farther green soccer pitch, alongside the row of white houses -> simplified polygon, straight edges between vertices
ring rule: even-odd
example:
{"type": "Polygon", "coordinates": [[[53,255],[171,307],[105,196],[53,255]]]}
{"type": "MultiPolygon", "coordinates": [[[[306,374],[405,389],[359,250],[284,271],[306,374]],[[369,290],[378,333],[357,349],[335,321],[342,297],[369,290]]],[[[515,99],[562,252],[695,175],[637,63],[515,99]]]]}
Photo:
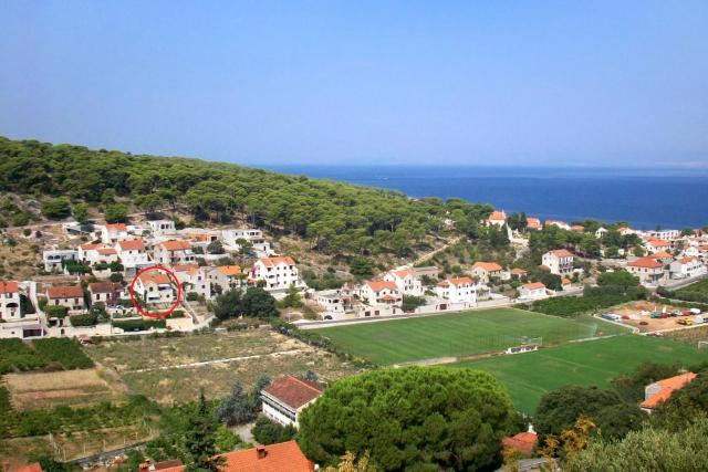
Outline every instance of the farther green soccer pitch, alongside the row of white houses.
{"type": "Polygon", "coordinates": [[[592,317],[561,318],[517,308],[492,308],[317,329],[342,349],[381,365],[500,350],[521,337],[543,345],[626,333],[592,317]]]}

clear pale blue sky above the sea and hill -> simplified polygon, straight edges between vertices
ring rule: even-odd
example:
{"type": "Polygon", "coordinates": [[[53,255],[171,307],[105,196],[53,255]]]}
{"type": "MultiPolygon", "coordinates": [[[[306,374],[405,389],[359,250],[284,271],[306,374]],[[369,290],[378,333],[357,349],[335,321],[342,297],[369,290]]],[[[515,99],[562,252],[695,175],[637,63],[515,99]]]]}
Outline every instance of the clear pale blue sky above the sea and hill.
{"type": "Polygon", "coordinates": [[[705,0],[0,12],[12,138],[263,166],[708,166],[705,0]]]}

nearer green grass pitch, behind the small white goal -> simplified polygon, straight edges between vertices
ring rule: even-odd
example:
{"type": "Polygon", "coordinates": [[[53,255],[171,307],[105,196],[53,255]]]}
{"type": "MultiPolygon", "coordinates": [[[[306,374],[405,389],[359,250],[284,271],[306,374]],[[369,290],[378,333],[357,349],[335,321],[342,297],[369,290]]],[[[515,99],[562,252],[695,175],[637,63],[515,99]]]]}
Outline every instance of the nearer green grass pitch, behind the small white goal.
{"type": "Polygon", "coordinates": [[[708,350],[670,339],[627,335],[455,366],[492,374],[509,389],[518,409],[533,412],[544,392],[564,385],[608,387],[612,378],[644,361],[688,366],[700,360],[708,360],[708,350]]]}

